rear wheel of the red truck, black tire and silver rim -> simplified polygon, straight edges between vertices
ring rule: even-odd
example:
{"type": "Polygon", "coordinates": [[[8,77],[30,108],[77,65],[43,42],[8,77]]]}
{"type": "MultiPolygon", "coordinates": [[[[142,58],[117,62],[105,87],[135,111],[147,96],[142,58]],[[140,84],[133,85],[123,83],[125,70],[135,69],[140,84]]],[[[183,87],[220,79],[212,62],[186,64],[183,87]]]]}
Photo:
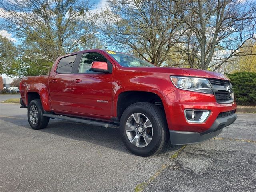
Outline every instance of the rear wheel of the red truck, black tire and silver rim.
{"type": "Polygon", "coordinates": [[[34,99],[28,105],[28,123],[32,129],[43,129],[49,123],[49,117],[44,117],[44,110],[42,108],[41,100],[34,99]]]}

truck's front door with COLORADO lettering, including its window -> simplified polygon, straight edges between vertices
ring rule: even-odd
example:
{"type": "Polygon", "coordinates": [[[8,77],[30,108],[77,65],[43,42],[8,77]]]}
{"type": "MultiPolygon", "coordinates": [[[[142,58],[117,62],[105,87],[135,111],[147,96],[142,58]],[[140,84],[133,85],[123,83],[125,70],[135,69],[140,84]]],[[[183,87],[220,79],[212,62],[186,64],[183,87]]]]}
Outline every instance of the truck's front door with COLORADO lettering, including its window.
{"type": "Polygon", "coordinates": [[[104,74],[90,69],[94,61],[107,62],[110,70],[112,64],[96,51],[84,52],[80,58],[76,74],[72,76],[72,112],[111,116],[112,73],[104,74]]]}

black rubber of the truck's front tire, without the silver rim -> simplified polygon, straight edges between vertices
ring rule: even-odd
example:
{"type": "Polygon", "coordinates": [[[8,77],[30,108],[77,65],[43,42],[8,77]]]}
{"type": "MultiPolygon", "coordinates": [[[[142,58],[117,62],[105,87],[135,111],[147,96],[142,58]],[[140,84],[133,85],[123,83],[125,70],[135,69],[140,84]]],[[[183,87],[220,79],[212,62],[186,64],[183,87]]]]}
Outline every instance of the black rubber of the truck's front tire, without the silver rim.
{"type": "Polygon", "coordinates": [[[162,126],[158,118],[156,118],[156,116],[157,115],[155,114],[154,111],[151,111],[147,107],[139,104],[136,106],[128,107],[122,114],[122,117],[120,120],[120,132],[121,132],[124,144],[126,145],[128,150],[130,150],[132,153],[140,156],[149,156],[150,154],[154,154],[154,152],[160,146],[163,131],[162,131],[162,126]],[[145,146],[142,148],[134,146],[134,144],[130,142],[130,140],[126,135],[126,130],[125,130],[126,122],[128,118],[134,113],[142,113],[146,115],[150,119],[150,122],[152,123],[152,127],[153,127],[153,137],[151,142],[148,144],[148,146],[145,146]]]}

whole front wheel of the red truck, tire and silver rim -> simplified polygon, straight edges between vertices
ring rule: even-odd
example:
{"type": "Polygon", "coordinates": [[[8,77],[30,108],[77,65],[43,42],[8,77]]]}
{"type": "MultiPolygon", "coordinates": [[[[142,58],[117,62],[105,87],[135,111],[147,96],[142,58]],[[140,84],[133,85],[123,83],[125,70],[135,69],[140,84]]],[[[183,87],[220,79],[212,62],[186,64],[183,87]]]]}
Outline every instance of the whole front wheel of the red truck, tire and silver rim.
{"type": "Polygon", "coordinates": [[[119,129],[126,148],[138,156],[157,154],[169,139],[165,114],[152,103],[138,102],[126,108],[119,129]]]}

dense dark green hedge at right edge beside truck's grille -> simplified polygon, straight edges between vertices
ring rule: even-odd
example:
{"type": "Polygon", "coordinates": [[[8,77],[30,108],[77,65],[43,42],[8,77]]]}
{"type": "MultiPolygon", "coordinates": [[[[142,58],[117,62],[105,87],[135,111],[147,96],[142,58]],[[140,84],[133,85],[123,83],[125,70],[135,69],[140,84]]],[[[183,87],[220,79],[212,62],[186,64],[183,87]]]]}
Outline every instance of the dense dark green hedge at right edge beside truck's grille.
{"type": "Polygon", "coordinates": [[[256,104],[256,73],[237,72],[227,75],[234,89],[234,97],[239,105],[256,104]]]}

